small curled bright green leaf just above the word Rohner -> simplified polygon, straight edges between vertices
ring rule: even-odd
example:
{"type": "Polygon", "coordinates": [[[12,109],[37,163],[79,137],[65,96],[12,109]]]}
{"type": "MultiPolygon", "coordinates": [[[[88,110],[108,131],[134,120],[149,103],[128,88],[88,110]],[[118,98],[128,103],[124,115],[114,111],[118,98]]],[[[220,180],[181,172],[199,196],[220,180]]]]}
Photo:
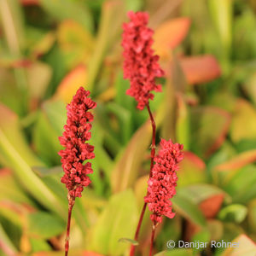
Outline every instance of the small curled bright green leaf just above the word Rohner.
{"type": "Polygon", "coordinates": [[[241,223],[247,216],[247,207],[238,204],[232,204],[228,207],[224,207],[218,213],[218,218],[223,221],[232,221],[241,223]]]}

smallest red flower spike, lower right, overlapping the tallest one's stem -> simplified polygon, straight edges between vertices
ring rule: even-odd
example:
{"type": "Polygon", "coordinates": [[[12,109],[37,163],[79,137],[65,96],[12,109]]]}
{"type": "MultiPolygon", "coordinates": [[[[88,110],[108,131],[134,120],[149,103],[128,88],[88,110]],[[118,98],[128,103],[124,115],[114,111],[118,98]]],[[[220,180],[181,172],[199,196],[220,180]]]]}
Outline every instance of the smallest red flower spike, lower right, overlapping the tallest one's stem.
{"type": "Polygon", "coordinates": [[[183,145],[161,139],[159,154],[154,157],[152,176],[148,179],[148,195],[144,201],[153,212],[150,216],[154,223],[161,223],[162,215],[173,218],[172,201],[176,194],[177,163],[183,160],[183,145]]]}

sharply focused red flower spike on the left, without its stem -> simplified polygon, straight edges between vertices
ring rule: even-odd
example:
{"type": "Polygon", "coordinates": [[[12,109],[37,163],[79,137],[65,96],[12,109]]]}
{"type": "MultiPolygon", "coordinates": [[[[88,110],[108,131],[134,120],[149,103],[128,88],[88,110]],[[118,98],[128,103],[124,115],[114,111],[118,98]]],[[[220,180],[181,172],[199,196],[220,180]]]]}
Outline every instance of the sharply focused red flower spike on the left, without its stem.
{"type": "Polygon", "coordinates": [[[93,115],[88,110],[96,107],[96,102],[93,102],[89,95],[89,90],[80,87],[73,96],[72,102],[67,105],[65,131],[62,137],[59,137],[61,145],[65,148],[59,152],[65,172],[61,183],[66,184],[68,194],[73,198],[81,197],[84,187],[90,184],[87,174],[93,172],[89,162],[84,164],[84,160],[95,157],[94,147],[85,143],[90,140],[90,122],[93,120],[93,115]]]}

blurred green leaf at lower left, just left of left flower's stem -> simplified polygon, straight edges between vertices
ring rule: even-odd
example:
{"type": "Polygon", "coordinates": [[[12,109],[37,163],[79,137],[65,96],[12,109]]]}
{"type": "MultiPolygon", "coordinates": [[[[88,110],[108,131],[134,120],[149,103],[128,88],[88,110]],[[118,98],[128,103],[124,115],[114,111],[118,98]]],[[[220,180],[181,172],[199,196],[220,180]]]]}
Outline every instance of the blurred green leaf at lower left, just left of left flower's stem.
{"type": "Polygon", "coordinates": [[[66,224],[48,212],[34,212],[28,216],[28,235],[34,238],[49,239],[60,235],[66,224]]]}

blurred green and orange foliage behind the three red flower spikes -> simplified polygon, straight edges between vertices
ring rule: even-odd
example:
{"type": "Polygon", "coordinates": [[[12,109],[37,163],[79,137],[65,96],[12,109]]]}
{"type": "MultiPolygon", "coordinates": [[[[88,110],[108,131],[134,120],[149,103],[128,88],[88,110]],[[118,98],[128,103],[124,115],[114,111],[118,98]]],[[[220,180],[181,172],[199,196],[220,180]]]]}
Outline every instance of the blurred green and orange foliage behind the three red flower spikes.
{"type": "MultiPolygon", "coordinates": [[[[79,86],[98,106],[92,185],[76,201],[71,255],[127,255],[143,206],[151,126],[125,95],[121,26],[146,10],[166,71],[150,102],[157,137],[183,143],[158,255],[255,255],[256,4],[247,0],[0,1],[0,255],[57,256],[67,190],[58,137],[79,86]],[[121,239],[121,241],[119,241],[121,239]],[[238,248],[166,250],[166,241],[238,241],[238,248]],[[126,242],[125,242],[126,241],[126,242]],[[165,251],[166,250],[166,251],[165,251]]],[[[143,221],[138,255],[148,255],[143,221]]]]}

